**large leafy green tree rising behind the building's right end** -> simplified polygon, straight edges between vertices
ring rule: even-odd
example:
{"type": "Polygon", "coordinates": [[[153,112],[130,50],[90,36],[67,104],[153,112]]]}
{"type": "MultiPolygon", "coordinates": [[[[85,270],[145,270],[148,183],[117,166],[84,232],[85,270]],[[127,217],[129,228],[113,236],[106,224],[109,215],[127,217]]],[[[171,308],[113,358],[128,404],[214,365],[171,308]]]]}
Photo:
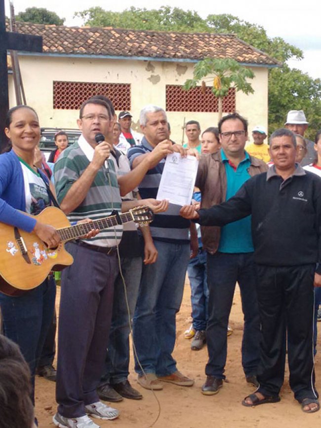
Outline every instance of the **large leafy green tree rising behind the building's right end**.
{"type": "Polygon", "coordinates": [[[288,110],[303,109],[310,123],[305,135],[313,140],[321,123],[321,80],[285,63],[290,58],[302,59],[303,52],[281,37],[269,38],[263,27],[232,15],[209,15],[206,22],[215,32],[236,33],[241,40],[283,63],[269,71],[269,131],[284,126],[288,110]]]}

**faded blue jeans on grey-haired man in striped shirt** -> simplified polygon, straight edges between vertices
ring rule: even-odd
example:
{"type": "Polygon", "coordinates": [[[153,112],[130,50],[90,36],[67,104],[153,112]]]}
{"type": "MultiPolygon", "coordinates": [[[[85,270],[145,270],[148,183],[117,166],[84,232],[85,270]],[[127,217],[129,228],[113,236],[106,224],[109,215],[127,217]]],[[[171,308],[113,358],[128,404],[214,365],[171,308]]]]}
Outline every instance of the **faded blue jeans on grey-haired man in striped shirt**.
{"type": "MultiPolygon", "coordinates": [[[[176,339],[176,313],[181,306],[189,244],[154,241],[157,261],[143,266],[133,320],[134,344],[146,373],[174,373],[172,352],[176,339]]],[[[135,371],[142,374],[135,358],[135,371]]]]}

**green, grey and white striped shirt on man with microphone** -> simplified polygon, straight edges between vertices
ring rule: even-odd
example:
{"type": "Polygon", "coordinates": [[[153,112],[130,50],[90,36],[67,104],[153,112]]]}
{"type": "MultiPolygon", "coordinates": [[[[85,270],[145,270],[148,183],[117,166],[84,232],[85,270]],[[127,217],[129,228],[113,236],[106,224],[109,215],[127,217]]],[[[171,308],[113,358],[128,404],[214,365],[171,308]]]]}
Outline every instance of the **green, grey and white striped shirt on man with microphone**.
{"type": "MultiPolygon", "coordinates": [[[[58,202],[61,203],[68,190],[88,167],[94,149],[81,135],[78,143],[67,147],[59,156],[54,168],[55,187],[58,202]]],[[[121,211],[121,198],[113,162],[108,162],[108,170],[102,166],[91,184],[84,200],[68,219],[79,221],[84,218],[97,220],[111,215],[113,210],[121,211]]],[[[83,241],[101,247],[118,245],[121,239],[122,226],[105,229],[92,239],[83,241]]]]}

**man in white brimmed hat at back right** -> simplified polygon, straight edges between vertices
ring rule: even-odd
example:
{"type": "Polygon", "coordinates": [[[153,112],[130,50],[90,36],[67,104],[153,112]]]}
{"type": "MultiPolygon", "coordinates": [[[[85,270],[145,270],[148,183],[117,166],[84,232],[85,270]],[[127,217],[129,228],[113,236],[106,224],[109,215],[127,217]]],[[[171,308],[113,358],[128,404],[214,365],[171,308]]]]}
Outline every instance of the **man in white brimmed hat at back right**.
{"type": "MultiPolygon", "coordinates": [[[[287,113],[286,122],[285,122],[285,128],[289,129],[290,131],[294,132],[294,134],[299,134],[304,137],[304,133],[306,129],[309,126],[309,122],[307,122],[307,119],[305,117],[303,110],[290,110],[287,113]]],[[[307,154],[300,162],[301,166],[310,165],[315,161],[317,158],[317,152],[314,149],[314,142],[305,139],[307,142],[307,154]]]]}

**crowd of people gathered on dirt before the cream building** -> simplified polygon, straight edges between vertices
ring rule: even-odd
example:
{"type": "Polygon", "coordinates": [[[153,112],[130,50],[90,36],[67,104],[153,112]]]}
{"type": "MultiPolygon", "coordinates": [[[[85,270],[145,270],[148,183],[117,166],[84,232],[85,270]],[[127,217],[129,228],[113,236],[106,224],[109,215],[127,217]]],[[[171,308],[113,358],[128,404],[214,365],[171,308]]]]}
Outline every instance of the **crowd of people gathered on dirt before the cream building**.
{"type": "MultiPolygon", "coordinates": [[[[38,425],[31,405],[36,373],[56,381],[53,423],[60,428],[99,428],[95,419],[119,416],[103,401],[140,400],[143,392],[128,380],[131,329],[143,389],[161,390],[164,382],[192,387],[194,380],[172,356],[186,273],[192,324],[184,335],[193,351],[205,344],[208,351],[201,393],[214,395],[223,386],[238,283],[241,362],[245,382],[255,387],[242,404],[280,401],[287,349],[294,396],[304,412],[318,411],[321,131],[315,143],[306,140],[304,112],[290,110],[269,144],[266,129],[257,125],[246,145],[247,120],[232,113],[202,133],[198,121],[187,122],[182,146],[170,140],[161,107],[141,110],[141,134],[131,120],[128,111],[117,117],[105,96],[92,97],[80,107],[79,141],[68,146],[67,135],[58,132],[57,149],[46,162],[37,112],[28,106],[8,112],[11,150],[0,155],[0,221],[33,231],[49,249],[60,244],[57,230],[24,213],[54,205],[71,224],[87,228],[65,245],[74,262],[61,275],[57,371],[52,273],[19,296],[0,293],[3,333],[29,366],[28,374],[20,354],[11,352],[15,363],[21,360],[23,379],[30,376],[25,426],[38,425]],[[184,207],[157,200],[166,156],[173,152],[199,160],[193,200],[184,207]],[[99,231],[90,224],[140,206],[154,212],[149,226],[128,222],[99,231]]],[[[14,396],[12,385],[8,397],[14,396]]]]}

